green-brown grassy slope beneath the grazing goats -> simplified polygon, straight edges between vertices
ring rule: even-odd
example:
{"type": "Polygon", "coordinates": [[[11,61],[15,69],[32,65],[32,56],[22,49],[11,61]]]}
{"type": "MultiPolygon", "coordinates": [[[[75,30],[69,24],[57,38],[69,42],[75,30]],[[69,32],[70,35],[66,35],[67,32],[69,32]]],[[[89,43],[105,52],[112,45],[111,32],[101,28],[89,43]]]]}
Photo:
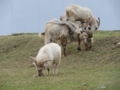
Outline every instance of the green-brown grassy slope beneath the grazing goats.
{"type": "Polygon", "coordinates": [[[35,67],[29,56],[36,56],[44,45],[37,35],[0,37],[0,90],[119,90],[120,32],[97,31],[93,48],[77,51],[69,44],[58,75],[33,78],[35,67]],[[105,88],[105,89],[104,89],[105,88]]]}

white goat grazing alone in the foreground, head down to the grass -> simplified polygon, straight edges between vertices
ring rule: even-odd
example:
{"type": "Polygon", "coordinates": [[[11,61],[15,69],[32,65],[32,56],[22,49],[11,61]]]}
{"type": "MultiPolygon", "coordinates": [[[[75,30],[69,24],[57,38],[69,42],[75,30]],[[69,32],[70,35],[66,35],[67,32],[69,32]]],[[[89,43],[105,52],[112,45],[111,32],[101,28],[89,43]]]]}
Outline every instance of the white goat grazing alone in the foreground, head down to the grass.
{"type": "Polygon", "coordinates": [[[51,64],[54,65],[54,74],[57,74],[58,65],[61,59],[61,47],[56,43],[47,44],[41,47],[36,58],[30,58],[33,60],[33,63],[38,71],[38,74],[34,76],[44,75],[43,70],[45,68],[47,68],[49,75],[51,64]]]}

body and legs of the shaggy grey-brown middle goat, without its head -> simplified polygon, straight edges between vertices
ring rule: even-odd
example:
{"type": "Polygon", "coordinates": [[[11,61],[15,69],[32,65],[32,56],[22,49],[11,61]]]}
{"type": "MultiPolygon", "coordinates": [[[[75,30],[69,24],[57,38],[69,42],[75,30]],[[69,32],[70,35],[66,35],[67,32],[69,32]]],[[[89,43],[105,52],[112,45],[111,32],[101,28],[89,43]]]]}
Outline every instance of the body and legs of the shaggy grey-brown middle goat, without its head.
{"type": "Polygon", "coordinates": [[[57,40],[60,40],[62,45],[62,54],[66,56],[66,45],[68,42],[79,39],[78,50],[80,50],[80,41],[87,41],[86,39],[88,36],[85,36],[86,38],[80,37],[82,34],[81,30],[82,29],[77,29],[75,24],[71,23],[70,21],[50,21],[45,26],[45,44],[57,42],[57,40]]]}

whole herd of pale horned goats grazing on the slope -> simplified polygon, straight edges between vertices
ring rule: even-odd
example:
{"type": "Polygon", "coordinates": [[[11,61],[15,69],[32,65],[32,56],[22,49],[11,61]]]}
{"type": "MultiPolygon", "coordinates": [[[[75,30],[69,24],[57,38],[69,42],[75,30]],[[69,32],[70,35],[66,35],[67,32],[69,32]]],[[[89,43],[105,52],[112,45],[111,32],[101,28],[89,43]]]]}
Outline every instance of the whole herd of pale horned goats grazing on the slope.
{"type": "Polygon", "coordinates": [[[77,41],[78,50],[81,44],[84,50],[92,47],[93,31],[100,26],[100,19],[96,20],[91,10],[76,4],[66,7],[66,11],[60,20],[53,19],[46,23],[44,35],[45,45],[41,47],[36,57],[30,57],[36,66],[38,74],[45,75],[44,69],[47,68],[48,75],[50,66],[54,65],[54,74],[57,74],[61,53],[66,56],[66,45],[68,42],[77,41]],[[61,47],[57,44],[60,41],[61,47]]]}

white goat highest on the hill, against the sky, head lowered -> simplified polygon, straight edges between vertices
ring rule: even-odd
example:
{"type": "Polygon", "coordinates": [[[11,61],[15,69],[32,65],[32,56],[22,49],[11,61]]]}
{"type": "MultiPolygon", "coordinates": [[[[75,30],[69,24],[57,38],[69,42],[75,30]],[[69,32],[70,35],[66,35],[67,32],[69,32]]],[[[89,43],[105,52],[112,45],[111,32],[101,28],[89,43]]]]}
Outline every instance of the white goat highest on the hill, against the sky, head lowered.
{"type": "Polygon", "coordinates": [[[92,11],[87,7],[82,7],[77,4],[71,4],[66,7],[66,15],[60,17],[62,20],[81,21],[86,24],[86,28],[90,30],[97,30],[100,26],[100,19],[96,20],[92,11]],[[66,16],[66,18],[65,18],[66,16]]]}

